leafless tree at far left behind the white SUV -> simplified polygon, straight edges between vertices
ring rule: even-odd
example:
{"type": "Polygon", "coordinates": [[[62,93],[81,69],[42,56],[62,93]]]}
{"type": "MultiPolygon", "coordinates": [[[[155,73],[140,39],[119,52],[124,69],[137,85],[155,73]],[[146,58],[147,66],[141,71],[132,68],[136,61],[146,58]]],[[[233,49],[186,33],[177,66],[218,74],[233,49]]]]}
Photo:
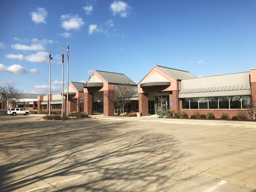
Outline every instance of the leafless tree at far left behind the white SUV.
{"type": "Polygon", "coordinates": [[[7,83],[7,85],[3,87],[0,86],[0,92],[6,107],[10,108],[12,102],[17,102],[21,99],[23,91],[17,89],[14,84],[7,83]]]}

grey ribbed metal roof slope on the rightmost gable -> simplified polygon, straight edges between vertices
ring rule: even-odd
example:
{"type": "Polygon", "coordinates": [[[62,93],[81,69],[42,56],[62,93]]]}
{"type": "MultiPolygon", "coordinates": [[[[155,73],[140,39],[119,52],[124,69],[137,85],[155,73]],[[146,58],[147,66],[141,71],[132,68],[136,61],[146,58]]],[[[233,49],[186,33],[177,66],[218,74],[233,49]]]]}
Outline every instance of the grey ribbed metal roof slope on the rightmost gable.
{"type": "Polygon", "coordinates": [[[183,71],[179,69],[173,69],[169,67],[163,67],[156,65],[156,67],[164,72],[166,72],[168,75],[172,76],[175,79],[183,80],[183,79],[191,79],[191,78],[196,78],[196,75],[193,75],[192,73],[188,71],[183,71]]]}

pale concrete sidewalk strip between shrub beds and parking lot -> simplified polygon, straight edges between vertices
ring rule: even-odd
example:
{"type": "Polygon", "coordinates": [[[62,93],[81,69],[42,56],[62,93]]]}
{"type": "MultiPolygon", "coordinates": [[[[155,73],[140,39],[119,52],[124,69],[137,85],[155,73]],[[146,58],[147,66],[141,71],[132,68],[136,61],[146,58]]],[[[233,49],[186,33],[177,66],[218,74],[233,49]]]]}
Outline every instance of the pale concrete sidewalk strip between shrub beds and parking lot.
{"type": "Polygon", "coordinates": [[[256,128],[255,121],[174,119],[174,118],[164,119],[164,118],[158,118],[157,115],[149,115],[149,116],[142,116],[142,117],[118,117],[118,116],[103,116],[103,114],[99,114],[99,115],[90,115],[89,117],[96,118],[96,119],[108,119],[108,120],[152,121],[152,122],[189,124],[189,125],[224,125],[224,126],[256,128]]]}

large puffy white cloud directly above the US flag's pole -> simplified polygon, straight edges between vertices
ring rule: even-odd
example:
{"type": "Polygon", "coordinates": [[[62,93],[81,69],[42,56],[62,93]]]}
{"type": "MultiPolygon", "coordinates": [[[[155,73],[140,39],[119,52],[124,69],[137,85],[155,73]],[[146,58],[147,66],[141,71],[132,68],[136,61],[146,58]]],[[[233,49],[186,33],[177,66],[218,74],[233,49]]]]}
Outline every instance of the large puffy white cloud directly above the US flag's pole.
{"type": "Polygon", "coordinates": [[[71,29],[80,29],[80,27],[84,25],[83,19],[79,18],[78,15],[61,15],[61,19],[65,20],[61,22],[61,26],[67,31],[71,29]]]}

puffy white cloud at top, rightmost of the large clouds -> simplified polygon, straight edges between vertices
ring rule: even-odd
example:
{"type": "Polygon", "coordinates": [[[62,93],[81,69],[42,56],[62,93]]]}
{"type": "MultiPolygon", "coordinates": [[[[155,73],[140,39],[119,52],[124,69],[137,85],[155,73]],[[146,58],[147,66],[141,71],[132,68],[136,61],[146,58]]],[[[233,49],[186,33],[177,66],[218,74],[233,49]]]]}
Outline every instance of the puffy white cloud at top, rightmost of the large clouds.
{"type": "Polygon", "coordinates": [[[110,10],[113,15],[120,14],[121,17],[127,17],[127,12],[129,12],[130,9],[131,7],[123,1],[114,1],[110,5],[110,10]]]}

